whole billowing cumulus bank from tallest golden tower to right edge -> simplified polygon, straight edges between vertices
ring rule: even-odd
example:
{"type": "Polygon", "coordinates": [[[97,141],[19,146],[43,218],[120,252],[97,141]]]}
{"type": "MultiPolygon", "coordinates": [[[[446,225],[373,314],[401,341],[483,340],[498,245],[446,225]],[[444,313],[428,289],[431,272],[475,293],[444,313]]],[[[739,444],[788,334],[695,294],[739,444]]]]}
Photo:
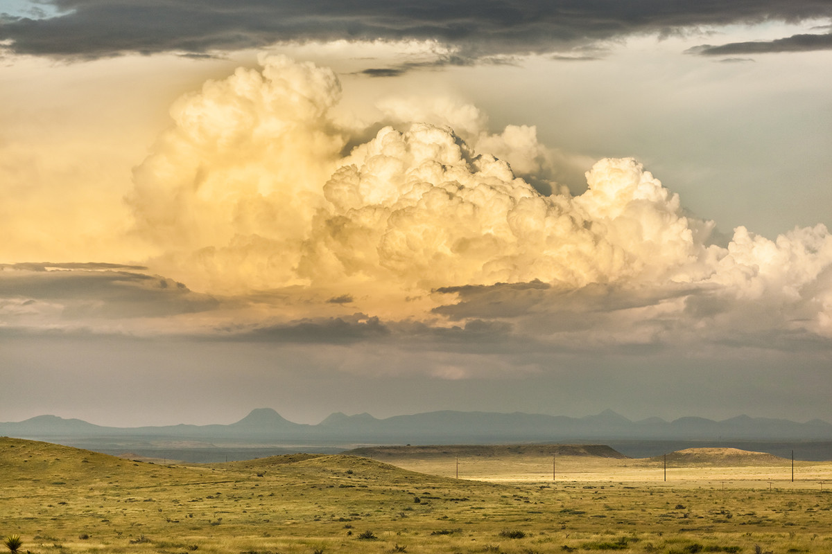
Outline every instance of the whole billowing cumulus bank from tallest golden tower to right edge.
{"type": "MultiPolygon", "coordinates": [[[[136,169],[131,205],[136,233],[157,249],[154,271],[200,292],[282,289],[295,316],[427,321],[450,302],[437,289],[539,281],[549,286],[535,289],[539,302],[500,297],[489,317],[557,311],[573,291],[573,315],[609,310],[592,316],[597,328],[641,343],[682,328],[832,336],[823,226],[775,241],[738,228],[721,248],[712,224],[686,216],[635,160],[598,161],[572,195],[552,182],[558,158],[534,127],[492,133],[479,110],[442,99],[387,101],[395,125],[343,155],[364,130],[336,124],[334,74],[261,62],[178,101],[175,125],[136,169]],[[641,303],[610,308],[580,293],[599,286],[616,291],[605,302],[641,303]]],[[[469,301],[453,316],[483,311],[469,301]]],[[[559,332],[547,325],[534,332],[559,332]]]]}

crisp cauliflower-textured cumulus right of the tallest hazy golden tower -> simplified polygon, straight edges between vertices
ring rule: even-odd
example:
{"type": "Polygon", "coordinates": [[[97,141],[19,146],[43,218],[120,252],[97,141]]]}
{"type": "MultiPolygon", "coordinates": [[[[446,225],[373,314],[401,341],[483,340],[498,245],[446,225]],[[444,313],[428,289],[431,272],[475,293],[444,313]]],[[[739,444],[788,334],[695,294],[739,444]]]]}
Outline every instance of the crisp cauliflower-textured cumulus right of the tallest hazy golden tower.
{"type": "Polygon", "coordinates": [[[576,288],[671,277],[703,255],[678,198],[633,160],[602,160],[589,186],[542,196],[449,130],[385,128],[324,185],[329,206],[302,267],[313,280],[358,272],[423,289],[534,279],[576,288]]]}

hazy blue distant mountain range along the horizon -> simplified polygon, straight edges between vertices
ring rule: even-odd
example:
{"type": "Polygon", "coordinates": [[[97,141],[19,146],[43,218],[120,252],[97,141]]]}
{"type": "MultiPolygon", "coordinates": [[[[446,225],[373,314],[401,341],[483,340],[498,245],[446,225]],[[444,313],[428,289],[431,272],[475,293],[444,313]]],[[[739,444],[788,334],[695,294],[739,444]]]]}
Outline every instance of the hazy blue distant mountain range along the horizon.
{"type": "Polygon", "coordinates": [[[820,419],[685,417],[631,421],[606,410],[582,418],[545,414],[437,411],[376,419],[370,414],[330,415],[319,424],[296,424],[274,409],[255,409],[233,424],[105,427],[40,415],[0,423],[0,435],[52,442],[107,439],[196,441],[198,444],[508,444],[519,442],[621,440],[832,440],[832,424],[820,419]]]}

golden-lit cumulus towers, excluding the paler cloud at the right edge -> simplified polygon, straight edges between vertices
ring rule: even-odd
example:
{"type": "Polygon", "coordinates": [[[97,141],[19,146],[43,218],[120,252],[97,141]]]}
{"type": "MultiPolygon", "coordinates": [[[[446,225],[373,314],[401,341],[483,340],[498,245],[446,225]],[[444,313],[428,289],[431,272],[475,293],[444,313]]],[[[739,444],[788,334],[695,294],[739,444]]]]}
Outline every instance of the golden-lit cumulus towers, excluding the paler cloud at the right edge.
{"type": "Polygon", "coordinates": [[[704,256],[708,224],[683,216],[631,159],[596,164],[584,194],[554,184],[545,196],[510,165],[544,169],[533,128],[489,135],[470,106],[448,119],[473,145],[417,121],[384,127],[342,158],[349,130],[330,116],[332,72],[282,57],[264,64],[178,101],[175,127],[136,169],[136,232],[159,248],[155,267],[191,286],[574,288],[687,275],[704,256]]]}

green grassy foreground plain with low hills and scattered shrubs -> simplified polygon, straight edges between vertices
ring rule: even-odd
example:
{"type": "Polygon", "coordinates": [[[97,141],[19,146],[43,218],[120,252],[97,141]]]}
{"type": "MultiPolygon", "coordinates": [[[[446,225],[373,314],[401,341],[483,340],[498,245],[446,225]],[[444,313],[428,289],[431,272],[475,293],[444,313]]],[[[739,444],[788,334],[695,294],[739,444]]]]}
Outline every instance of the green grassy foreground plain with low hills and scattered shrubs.
{"type": "Polygon", "coordinates": [[[728,468],[741,486],[664,482],[656,460],[585,458],[591,472],[496,482],[448,477],[448,458],[446,476],[350,455],[183,466],[0,439],[0,535],[55,554],[832,551],[832,492],[817,480],[769,489],[741,479],[752,465],[728,468]],[[616,479],[639,464],[641,480],[616,479]]]}

